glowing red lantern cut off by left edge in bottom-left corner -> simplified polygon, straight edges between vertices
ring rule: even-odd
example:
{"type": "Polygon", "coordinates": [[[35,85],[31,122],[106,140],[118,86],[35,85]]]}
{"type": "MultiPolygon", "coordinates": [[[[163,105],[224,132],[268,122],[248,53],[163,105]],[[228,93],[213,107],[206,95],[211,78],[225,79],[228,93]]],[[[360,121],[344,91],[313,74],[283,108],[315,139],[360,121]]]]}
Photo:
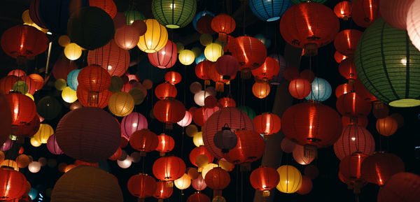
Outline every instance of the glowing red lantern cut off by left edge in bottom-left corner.
{"type": "Polygon", "coordinates": [[[27,179],[25,175],[9,168],[0,168],[0,197],[3,200],[16,199],[25,194],[27,179]]]}

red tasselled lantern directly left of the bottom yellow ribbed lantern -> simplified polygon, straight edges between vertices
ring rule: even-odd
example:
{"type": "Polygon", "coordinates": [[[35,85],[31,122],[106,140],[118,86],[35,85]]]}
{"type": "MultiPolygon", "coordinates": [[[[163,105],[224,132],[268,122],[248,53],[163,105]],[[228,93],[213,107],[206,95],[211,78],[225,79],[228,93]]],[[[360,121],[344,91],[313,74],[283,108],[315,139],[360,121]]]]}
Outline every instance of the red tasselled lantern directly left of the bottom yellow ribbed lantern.
{"type": "Polygon", "coordinates": [[[279,184],[280,177],[275,168],[262,167],[253,170],[249,180],[254,189],[262,191],[262,196],[269,196],[269,190],[279,184]]]}

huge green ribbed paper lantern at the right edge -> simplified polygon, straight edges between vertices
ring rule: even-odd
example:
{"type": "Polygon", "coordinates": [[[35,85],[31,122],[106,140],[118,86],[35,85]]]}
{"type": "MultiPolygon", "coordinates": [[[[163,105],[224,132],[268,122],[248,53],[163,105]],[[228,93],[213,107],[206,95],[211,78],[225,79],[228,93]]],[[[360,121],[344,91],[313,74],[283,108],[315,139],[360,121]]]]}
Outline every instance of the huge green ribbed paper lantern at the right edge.
{"type": "Polygon", "coordinates": [[[358,78],[379,101],[420,106],[420,52],[407,31],[375,20],[358,42],[354,62],[358,78]]]}

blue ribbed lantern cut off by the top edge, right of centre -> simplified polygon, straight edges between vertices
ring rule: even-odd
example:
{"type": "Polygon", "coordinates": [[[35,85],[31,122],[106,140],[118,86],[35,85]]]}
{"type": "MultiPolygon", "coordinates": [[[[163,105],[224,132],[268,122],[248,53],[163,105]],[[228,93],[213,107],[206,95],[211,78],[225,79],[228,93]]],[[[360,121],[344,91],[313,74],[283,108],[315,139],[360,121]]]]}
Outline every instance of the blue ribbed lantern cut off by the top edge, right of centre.
{"type": "Polygon", "coordinates": [[[279,20],[290,6],[293,6],[290,0],[249,0],[252,13],[267,22],[279,20]]]}

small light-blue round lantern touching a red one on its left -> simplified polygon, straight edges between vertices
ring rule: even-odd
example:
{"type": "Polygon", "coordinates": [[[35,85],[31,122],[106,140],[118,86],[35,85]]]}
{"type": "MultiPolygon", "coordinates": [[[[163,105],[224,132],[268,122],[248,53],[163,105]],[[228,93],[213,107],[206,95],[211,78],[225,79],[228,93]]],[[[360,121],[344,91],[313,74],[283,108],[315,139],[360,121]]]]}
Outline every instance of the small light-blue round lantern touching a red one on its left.
{"type": "Polygon", "coordinates": [[[330,83],[327,80],[323,78],[315,78],[311,85],[312,91],[305,99],[325,101],[330,98],[332,89],[330,83]]]}

